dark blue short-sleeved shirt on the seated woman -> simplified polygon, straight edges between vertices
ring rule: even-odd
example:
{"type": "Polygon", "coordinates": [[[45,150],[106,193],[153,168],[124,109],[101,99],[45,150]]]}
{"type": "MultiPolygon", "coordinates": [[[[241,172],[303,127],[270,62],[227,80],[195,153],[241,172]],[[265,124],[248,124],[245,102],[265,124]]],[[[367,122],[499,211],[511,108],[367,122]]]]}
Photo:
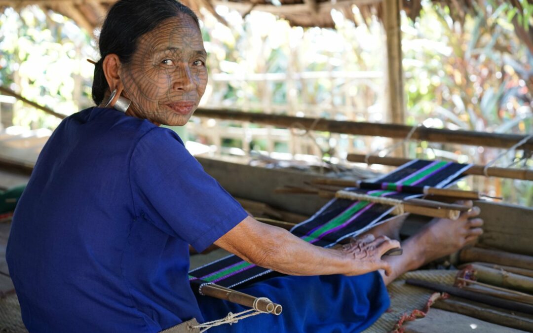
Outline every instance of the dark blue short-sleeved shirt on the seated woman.
{"type": "Polygon", "coordinates": [[[180,137],[113,109],[64,119],[13,216],[7,263],[30,331],[154,332],[195,317],[189,244],[247,216],[180,137]]]}

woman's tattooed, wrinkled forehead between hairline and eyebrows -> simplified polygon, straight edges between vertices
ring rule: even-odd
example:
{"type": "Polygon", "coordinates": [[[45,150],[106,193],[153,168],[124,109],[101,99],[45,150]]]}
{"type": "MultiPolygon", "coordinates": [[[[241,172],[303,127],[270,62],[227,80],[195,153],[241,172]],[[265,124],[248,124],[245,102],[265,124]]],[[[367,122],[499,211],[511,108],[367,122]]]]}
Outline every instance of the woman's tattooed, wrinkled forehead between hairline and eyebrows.
{"type": "Polygon", "coordinates": [[[139,39],[139,48],[148,47],[151,52],[169,49],[191,48],[203,50],[204,41],[196,22],[189,15],[169,18],[139,39]]]}

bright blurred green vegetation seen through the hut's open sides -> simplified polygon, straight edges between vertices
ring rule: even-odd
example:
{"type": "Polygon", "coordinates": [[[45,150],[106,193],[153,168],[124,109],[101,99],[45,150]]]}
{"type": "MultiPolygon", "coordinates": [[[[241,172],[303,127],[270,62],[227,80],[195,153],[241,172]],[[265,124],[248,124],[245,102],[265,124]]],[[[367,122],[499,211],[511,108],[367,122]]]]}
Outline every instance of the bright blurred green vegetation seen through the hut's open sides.
{"type": "MultiPolygon", "coordinates": [[[[473,2],[479,6],[474,13],[462,15],[461,21],[453,20],[446,5],[430,1],[422,3],[421,15],[414,21],[402,15],[407,125],[532,133],[533,54],[516,29],[529,33],[533,5],[519,2],[522,12],[507,2],[473,2]]],[[[290,27],[268,13],[252,11],[243,19],[227,7],[217,6],[216,11],[227,20],[227,26],[202,13],[210,75],[202,101],[205,107],[387,122],[383,91],[386,50],[383,28],[376,18],[364,20],[353,7],[359,22],[356,26],[333,10],[336,30],[304,29],[290,27]]],[[[95,35],[98,37],[98,31],[95,35]]],[[[98,60],[95,45],[91,31],[78,28],[58,13],[43,12],[37,6],[18,12],[7,8],[0,15],[2,85],[66,115],[90,107],[93,66],[86,59],[98,60]]],[[[13,102],[0,100],[4,127],[53,129],[59,124],[53,116],[13,102]]],[[[199,118],[187,126],[188,131],[181,135],[213,145],[215,150],[230,149],[219,152],[247,154],[255,150],[275,158],[298,154],[339,161],[349,152],[367,153],[390,144],[382,138],[332,133],[302,137],[298,131],[269,126],[265,126],[265,135],[221,135],[215,140],[209,134],[213,128],[260,128],[199,118]],[[276,139],[287,131],[292,141],[276,139]]],[[[501,150],[411,142],[408,152],[411,158],[485,164],[501,150]]],[[[515,163],[531,168],[533,161],[524,159],[528,153],[510,152],[497,165],[515,163]]],[[[532,206],[530,183],[470,177],[460,185],[532,206]]]]}

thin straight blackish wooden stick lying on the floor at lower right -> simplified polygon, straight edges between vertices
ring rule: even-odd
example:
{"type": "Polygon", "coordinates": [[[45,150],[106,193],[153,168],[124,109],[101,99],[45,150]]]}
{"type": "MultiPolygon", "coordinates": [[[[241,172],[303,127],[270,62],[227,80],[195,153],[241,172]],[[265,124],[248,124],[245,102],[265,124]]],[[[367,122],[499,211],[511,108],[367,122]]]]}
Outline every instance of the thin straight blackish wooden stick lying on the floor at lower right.
{"type": "Polygon", "coordinates": [[[417,280],[417,279],[407,279],[406,283],[408,285],[423,287],[423,288],[439,291],[440,293],[448,293],[450,295],[463,297],[466,299],[474,300],[476,302],[480,302],[480,303],[484,303],[484,304],[488,304],[488,305],[492,305],[496,307],[506,308],[507,310],[520,311],[523,313],[533,314],[533,305],[514,302],[513,300],[500,299],[500,298],[492,297],[489,295],[474,293],[473,291],[463,290],[457,287],[441,285],[439,283],[422,281],[422,280],[417,280]]]}

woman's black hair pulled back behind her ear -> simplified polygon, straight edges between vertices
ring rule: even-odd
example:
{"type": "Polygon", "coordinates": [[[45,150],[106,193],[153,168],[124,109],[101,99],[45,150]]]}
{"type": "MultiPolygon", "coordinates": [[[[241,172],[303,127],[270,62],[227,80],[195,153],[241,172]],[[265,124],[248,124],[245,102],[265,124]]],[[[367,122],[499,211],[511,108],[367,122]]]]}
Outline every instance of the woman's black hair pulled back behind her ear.
{"type": "Polygon", "coordinates": [[[101,58],[94,66],[92,95],[96,105],[109,87],[102,68],[106,55],[115,53],[120,62],[130,62],[139,37],[154,30],[161,21],[180,14],[189,15],[200,27],[196,14],[177,0],[120,0],[111,7],[98,43],[101,58]]]}

